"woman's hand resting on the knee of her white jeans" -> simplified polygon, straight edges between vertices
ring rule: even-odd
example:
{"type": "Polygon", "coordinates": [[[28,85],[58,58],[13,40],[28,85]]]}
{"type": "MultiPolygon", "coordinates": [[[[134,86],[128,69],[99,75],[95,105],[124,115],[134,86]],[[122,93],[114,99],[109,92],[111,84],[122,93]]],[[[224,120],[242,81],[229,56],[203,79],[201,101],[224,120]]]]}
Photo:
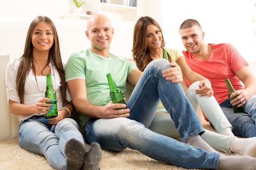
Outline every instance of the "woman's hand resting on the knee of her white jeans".
{"type": "Polygon", "coordinates": [[[195,90],[195,93],[200,94],[199,96],[213,96],[213,88],[209,80],[201,80],[199,88],[195,90]]]}

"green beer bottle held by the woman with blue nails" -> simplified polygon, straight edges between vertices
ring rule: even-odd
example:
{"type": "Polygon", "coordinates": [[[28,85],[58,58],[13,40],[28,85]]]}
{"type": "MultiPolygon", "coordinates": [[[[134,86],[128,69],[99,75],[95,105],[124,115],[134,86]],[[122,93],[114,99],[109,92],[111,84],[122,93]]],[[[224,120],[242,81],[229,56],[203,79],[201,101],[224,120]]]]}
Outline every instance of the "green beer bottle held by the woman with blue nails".
{"type": "Polygon", "coordinates": [[[44,92],[44,97],[54,101],[54,102],[46,102],[48,104],[54,105],[53,110],[47,110],[47,111],[50,111],[51,113],[47,113],[46,117],[47,118],[54,118],[54,117],[58,116],[56,92],[55,92],[55,90],[53,89],[53,86],[52,86],[51,74],[46,75],[46,91],[44,92]]]}

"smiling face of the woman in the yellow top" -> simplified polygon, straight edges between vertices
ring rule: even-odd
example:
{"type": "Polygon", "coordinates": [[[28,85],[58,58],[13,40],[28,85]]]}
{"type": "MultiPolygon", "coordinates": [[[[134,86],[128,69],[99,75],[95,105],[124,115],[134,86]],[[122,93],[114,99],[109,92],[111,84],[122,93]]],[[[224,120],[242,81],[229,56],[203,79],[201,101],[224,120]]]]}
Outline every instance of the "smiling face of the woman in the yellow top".
{"type": "Polygon", "coordinates": [[[149,24],[146,29],[147,37],[147,48],[149,50],[159,49],[162,44],[162,33],[160,30],[153,24],[149,24]]]}

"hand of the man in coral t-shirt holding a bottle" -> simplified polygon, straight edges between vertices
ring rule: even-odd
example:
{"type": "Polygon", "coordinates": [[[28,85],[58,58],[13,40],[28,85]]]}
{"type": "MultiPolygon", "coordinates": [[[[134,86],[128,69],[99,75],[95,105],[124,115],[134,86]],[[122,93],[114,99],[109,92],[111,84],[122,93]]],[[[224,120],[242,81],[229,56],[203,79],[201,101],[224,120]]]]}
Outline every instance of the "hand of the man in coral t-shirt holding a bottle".
{"type": "Polygon", "coordinates": [[[236,95],[238,96],[235,99],[233,99],[230,103],[232,105],[238,104],[237,107],[241,107],[250,99],[253,93],[247,89],[241,89],[241,90],[236,90],[235,93],[230,95],[230,97],[232,98],[232,97],[235,97],[236,95]]]}

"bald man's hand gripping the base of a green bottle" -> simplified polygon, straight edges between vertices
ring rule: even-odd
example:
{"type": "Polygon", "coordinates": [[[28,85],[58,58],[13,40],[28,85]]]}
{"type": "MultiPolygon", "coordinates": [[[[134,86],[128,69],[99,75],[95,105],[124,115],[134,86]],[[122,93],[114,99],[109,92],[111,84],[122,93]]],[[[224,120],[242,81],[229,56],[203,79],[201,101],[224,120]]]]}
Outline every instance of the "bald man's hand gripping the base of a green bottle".
{"type": "Polygon", "coordinates": [[[127,118],[130,116],[130,109],[125,109],[126,104],[108,102],[105,106],[102,106],[102,114],[99,118],[111,119],[111,118],[127,118]],[[124,109],[122,109],[124,108],[124,109]],[[118,109],[118,110],[116,110],[118,109]]]}

